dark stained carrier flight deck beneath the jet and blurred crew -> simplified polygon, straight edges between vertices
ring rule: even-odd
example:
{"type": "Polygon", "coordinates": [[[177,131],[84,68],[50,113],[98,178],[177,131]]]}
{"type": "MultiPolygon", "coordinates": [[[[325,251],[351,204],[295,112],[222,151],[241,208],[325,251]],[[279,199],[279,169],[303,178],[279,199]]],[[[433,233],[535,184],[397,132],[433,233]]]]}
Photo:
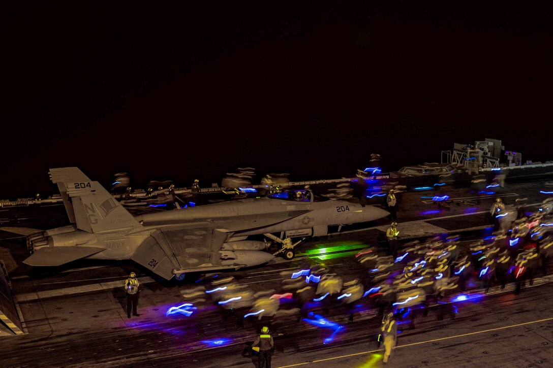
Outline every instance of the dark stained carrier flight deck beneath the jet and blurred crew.
{"type": "MultiPolygon", "coordinates": [[[[547,194],[543,182],[508,185],[495,194],[477,196],[467,188],[452,188],[448,195],[459,205],[439,208],[429,198],[436,192],[408,192],[399,196],[400,242],[424,239],[434,234],[463,234],[466,241],[491,233],[486,213],[498,196],[505,203],[526,197],[528,211],[535,211],[547,194]],[[472,202],[478,197],[479,203],[472,202]],[[472,198],[472,199],[471,199],[472,198]]],[[[26,214],[29,219],[32,213],[26,214]]],[[[44,228],[48,228],[46,219],[44,228]]],[[[24,226],[19,221],[18,226],[24,226]]],[[[389,225],[383,219],[366,228],[344,227],[341,234],[310,241],[297,249],[295,259],[277,257],[269,264],[233,275],[254,291],[274,289],[283,293],[282,272],[309,266],[325,266],[343,279],[359,277],[364,270],[354,254],[378,244],[389,225]],[[368,228],[367,228],[368,227],[368,228]]],[[[51,226],[54,227],[54,226],[51,226]]],[[[28,256],[25,239],[2,232],[0,259],[4,261],[23,317],[25,334],[0,335],[2,366],[56,367],[254,367],[250,344],[260,323],[255,317],[237,329],[233,318],[221,320],[211,303],[201,314],[204,333],[197,335],[194,319],[182,314],[166,316],[170,307],[182,303],[181,291],[197,285],[209,287],[212,277],[185,283],[161,280],[132,261],[80,260],[56,269],[37,269],[22,263],[28,256]],[[126,316],[123,283],[137,272],[142,292],[140,317],[126,316]]],[[[384,251],[382,250],[382,254],[384,251]]],[[[550,265],[551,269],[551,265],[550,265]]],[[[551,273],[551,272],[550,272],[551,273]]],[[[456,303],[457,318],[416,318],[413,330],[403,329],[398,347],[388,362],[391,367],[419,366],[551,366],[553,364],[553,277],[538,271],[534,285],[525,285],[514,295],[514,284],[504,290],[495,285],[483,292],[478,280],[469,282],[467,301],[456,303]]],[[[281,299],[281,308],[290,307],[281,299]]],[[[312,311],[321,313],[313,303],[312,311]]],[[[356,303],[354,322],[340,304],[324,315],[328,326],[306,320],[282,318],[273,324],[276,351],[273,367],[382,365],[376,337],[381,318],[365,299],[356,303]],[[328,340],[331,338],[331,340],[328,340]],[[326,344],[325,344],[326,340],[326,344]]],[[[311,316],[311,319],[317,317],[311,316]]],[[[400,328],[401,330],[401,328],[400,328]]]]}

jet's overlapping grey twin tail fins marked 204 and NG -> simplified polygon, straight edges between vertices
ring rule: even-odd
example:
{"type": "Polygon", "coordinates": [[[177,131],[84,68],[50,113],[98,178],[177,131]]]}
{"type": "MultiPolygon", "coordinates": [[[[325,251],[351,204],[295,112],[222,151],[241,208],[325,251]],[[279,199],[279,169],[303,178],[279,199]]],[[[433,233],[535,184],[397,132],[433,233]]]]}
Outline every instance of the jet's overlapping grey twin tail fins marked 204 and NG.
{"type": "Polygon", "coordinates": [[[50,178],[60,188],[67,215],[78,229],[98,233],[141,226],[100,183],[77,167],[50,169],[50,178]]]}

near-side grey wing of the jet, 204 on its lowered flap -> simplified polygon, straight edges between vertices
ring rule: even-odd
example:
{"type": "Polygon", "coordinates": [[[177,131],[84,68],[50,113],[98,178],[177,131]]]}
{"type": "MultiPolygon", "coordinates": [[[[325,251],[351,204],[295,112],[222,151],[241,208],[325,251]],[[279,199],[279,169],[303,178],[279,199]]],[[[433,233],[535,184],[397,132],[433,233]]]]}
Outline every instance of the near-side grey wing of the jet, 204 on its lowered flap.
{"type": "Polygon", "coordinates": [[[158,229],[134,252],[131,259],[161,277],[170,280],[175,269],[218,268],[219,250],[227,240],[226,230],[213,224],[205,227],[158,229]]]}

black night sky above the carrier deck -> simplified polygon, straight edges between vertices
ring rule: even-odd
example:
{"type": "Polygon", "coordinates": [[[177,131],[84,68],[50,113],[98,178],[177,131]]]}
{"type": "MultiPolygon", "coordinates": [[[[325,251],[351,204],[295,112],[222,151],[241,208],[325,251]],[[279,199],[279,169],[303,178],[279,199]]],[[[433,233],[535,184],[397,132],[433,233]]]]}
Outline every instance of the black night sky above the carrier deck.
{"type": "Polygon", "coordinates": [[[4,4],[0,198],[64,166],[309,180],[484,138],[553,160],[552,9],[479,3],[4,4]]]}

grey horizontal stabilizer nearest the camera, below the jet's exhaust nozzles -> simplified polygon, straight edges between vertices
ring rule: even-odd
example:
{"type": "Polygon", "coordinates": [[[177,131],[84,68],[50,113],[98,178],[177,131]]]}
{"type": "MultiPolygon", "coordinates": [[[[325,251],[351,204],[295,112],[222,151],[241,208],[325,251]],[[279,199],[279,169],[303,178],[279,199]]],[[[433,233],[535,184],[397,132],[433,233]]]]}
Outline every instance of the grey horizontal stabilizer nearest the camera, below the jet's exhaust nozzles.
{"type": "Polygon", "coordinates": [[[105,248],[92,246],[53,246],[40,248],[23,261],[29,266],[61,266],[67,262],[99,253],[105,248]]]}

